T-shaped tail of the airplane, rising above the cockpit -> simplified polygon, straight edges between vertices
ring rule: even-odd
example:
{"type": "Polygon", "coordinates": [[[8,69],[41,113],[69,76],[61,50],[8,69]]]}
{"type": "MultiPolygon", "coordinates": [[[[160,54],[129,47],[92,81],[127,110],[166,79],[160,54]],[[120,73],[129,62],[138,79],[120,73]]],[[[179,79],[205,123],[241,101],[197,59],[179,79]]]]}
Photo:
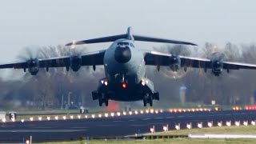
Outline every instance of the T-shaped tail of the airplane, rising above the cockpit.
{"type": "Polygon", "coordinates": [[[102,38],[93,38],[93,39],[87,39],[87,40],[78,41],[78,42],[70,42],[70,43],[67,43],[66,46],[71,46],[74,44],[82,45],[82,44],[89,44],[89,43],[114,42],[121,38],[126,38],[133,41],[163,42],[163,43],[174,43],[174,44],[181,44],[181,45],[197,46],[196,44],[191,42],[182,42],[182,41],[176,41],[176,40],[165,39],[165,38],[153,38],[153,37],[146,37],[141,35],[133,35],[131,27],[128,27],[126,34],[113,35],[113,36],[102,37],[102,38]]]}

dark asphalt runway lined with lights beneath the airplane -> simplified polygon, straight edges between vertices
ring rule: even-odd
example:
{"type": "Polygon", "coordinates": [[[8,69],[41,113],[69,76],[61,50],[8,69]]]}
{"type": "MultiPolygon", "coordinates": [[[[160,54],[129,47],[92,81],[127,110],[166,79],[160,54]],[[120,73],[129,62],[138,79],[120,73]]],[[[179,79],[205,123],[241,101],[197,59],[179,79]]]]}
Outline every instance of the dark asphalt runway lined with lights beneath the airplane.
{"type": "MultiPolygon", "coordinates": [[[[90,115],[90,114],[87,114],[90,115]]],[[[0,142],[23,142],[23,139],[33,137],[33,142],[48,142],[58,140],[72,140],[90,137],[118,137],[131,134],[149,133],[150,127],[155,131],[162,131],[162,126],[168,124],[169,130],[174,130],[175,124],[180,123],[181,129],[192,122],[196,127],[198,122],[207,126],[213,121],[217,126],[219,121],[225,125],[226,121],[255,120],[256,110],[222,110],[198,112],[163,112],[158,114],[126,114],[105,118],[84,118],[70,120],[50,120],[34,122],[0,122],[0,142]]]]}

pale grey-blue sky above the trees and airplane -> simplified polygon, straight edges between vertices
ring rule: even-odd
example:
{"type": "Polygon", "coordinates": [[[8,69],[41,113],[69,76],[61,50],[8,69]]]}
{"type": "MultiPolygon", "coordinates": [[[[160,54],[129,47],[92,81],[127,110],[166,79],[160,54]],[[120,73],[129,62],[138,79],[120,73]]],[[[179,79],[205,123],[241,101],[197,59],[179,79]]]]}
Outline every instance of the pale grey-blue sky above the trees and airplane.
{"type": "Polygon", "coordinates": [[[0,62],[14,61],[25,46],[55,46],[122,34],[128,26],[135,34],[201,46],[204,42],[254,43],[255,6],[254,0],[1,0],[0,62]]]}

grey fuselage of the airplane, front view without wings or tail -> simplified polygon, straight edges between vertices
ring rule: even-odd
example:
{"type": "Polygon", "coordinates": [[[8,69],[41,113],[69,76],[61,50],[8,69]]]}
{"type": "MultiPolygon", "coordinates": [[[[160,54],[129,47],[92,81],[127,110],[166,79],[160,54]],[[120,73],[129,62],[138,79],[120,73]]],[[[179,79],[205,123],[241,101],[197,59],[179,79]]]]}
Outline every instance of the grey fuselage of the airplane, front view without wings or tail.
{"type": "Polygon", "coordinates": [[[146,78],[145,67],[144,55],[134,41],[119,39],[113,42],[104,56],[106,78],[103,80],[107,86],[99,82],[98,91],[108,94],[112,100],[142,100],[143,94],[154,90],[153,82],[146,78]],[[145,83],[145,90],[142,83],[145,83]]]}

